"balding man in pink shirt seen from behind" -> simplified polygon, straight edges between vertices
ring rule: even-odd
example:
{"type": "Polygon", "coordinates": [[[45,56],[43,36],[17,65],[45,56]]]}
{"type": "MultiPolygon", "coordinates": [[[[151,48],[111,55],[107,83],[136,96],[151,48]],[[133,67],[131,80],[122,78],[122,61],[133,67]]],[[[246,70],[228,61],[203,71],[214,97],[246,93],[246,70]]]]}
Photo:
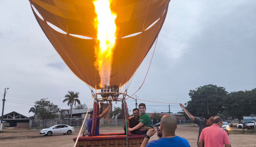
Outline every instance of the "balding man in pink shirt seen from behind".
{"type": "Polygon", "coordinates": [[[213,125],[207,128],[204,128],[200,134],[198,146],[203,147],[231,147],[229,136],[225,130],[221,129],[222,119],[220,117],[213,118],[213,125]]]}

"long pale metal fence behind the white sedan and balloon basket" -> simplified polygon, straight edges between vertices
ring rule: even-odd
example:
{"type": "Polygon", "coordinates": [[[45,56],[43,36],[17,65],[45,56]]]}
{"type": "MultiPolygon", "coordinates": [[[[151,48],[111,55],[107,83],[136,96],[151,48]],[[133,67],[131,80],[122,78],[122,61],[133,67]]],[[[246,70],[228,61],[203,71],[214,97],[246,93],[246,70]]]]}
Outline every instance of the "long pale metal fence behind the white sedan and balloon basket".
{"type": "MultiPolygon", "coordinates": [[[[48,120],[30,120],[29,128],[30,129],[39,129],[39,128],[49,128],[54,125],[69,125],[72,127],[80,128],[83,124],[84,119],[70,119],[60,120],[60,119],[48,119],[48,120]]],[[[86,126],[85,120],[85,126],[86,126]]],[[[123,127],[122,120],[100,120],[100,127],[123,127]]]]}

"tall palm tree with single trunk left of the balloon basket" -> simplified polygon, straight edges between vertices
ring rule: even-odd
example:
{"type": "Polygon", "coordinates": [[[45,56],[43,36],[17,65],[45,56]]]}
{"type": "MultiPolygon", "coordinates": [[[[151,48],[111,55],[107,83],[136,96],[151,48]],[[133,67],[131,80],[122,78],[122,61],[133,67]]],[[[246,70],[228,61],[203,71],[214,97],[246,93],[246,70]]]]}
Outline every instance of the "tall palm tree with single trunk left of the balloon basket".
{"type": "Polygon", "coordinates": [[[76,103],[81,104],[80,100],[78,100],[78,95],[79,92],[74,92],[74,91],[68,91],[69,94],[66,94],[64,97],[66,97],[66,99],[64,99],[62,102],[68,102],[68,106],[70,105],[70,120],[72,120],[72,109],[73,109],[73,105],[75,105],[76,103]]]}

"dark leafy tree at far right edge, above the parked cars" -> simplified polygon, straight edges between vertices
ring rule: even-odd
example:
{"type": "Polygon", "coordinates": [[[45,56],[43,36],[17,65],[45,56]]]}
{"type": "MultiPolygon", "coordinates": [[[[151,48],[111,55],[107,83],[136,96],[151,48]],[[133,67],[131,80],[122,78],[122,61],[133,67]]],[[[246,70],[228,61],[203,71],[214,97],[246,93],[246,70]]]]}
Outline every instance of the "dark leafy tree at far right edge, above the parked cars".
{"type": "Polygon", "coordinates": [[[236,116],[238,120],[242,116],[249,116],[256,112],[256,88],[251,91],[238,91],[227,94],[223,101],[223,107],[231,116],[236,116]]]}

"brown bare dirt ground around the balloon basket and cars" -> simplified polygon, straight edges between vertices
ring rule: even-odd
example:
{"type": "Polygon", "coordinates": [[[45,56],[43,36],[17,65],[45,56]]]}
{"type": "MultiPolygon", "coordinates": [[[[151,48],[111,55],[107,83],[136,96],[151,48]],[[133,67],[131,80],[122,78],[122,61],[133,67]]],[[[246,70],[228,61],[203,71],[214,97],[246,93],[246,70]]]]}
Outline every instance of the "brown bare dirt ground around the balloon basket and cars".
{"type": "MultiPolygon", "coordinates": [[[[3,128],[3,133],[0,133],[0,146],[1,147],[14,147],[14,146],[54,146],[54,147],[72,147],[74,146],[73,137],[77,136],[80,129],[75,129],[75,133],[71,135],[52,135],[43,136],[39,134],[40,130],[29,130],[26,128],[3,128]]],[[[123,132],[123,128],[100,128],[100,133],[119,133],[123,132]]],[[[188,140],[191,147],[197,146],[198,127],[193,123],[189,125],[178,125],[175,132],[177,136],[183,137],[188,140]]],[[[231,127],[229,139],[232,147],[256,147],[255,139],[256,133],[250,133],[245,130],[236,128],[236,124],[231,127]]],[[[157,136],[154,135],[149,141],[156,140],[157,136]]]]}

